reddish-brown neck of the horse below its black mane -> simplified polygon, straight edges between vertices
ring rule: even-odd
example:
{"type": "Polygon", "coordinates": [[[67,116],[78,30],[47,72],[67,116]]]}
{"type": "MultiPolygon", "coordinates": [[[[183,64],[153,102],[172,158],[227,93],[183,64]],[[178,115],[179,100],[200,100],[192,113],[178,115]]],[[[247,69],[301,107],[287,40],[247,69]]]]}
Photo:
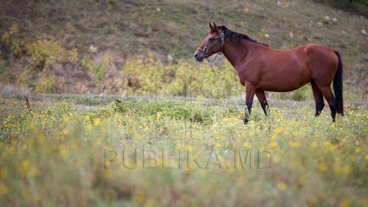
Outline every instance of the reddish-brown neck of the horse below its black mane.
{"type": "Polygon", "coordinates": [[[237,70],[237,65],[241,64],[256,47],[257,43],[248,40],[242,40],[240,44],[225,40],[223,54],[237,70]]]}

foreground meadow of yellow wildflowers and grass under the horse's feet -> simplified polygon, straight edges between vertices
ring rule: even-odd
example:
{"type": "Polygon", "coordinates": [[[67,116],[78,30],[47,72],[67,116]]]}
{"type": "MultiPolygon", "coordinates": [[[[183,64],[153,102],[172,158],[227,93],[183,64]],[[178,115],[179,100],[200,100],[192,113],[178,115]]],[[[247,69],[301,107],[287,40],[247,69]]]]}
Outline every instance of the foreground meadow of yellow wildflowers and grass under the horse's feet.
{"type": "Polygon", "coordinates": [[[0,205],[368,205],[367,105],[332,123],[311,102],[272,104],[244,126],[221,100],[30,110],[9,99],[0,205]]]}

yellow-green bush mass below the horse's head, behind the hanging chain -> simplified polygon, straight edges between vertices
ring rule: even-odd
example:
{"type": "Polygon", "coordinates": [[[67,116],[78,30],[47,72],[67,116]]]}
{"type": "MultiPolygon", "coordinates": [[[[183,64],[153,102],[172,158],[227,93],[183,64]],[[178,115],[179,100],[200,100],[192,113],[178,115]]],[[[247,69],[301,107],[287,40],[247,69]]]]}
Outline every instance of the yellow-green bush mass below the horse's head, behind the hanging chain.
{"type": "MultiPolygon", "coordinates": [[[[214,67],[228,96],[243,95],[243,86],[230,63],[218,61],[214,67]]],[[[198,65],[180,59],[177,63],[164,64],[148,52],[147,58],[129,59],[121,76],[126,79],[128,94],[224,97],[219,82],[205,63],[198,65]]]]}

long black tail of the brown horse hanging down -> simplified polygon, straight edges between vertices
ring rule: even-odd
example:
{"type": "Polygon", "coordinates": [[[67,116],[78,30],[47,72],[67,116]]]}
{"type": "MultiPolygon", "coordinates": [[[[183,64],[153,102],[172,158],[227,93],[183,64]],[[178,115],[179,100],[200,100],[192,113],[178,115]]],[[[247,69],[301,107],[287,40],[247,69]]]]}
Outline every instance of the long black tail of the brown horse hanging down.
{"type": "Polygon", "coordinates": [[[333,88],[334,88],[334,93],[335,93],[335,97],[336,97],[336,101],[337,101],[336,112],[340,113],[343,116],[342,61],[341,61],[340,53],[337,52],[337,51],[334,51],[334,52],[335,52],[335,54],[338,58],[337,71],[336,71],[336,74],[334,76],[334,81],[333,81],[333,88]]]}

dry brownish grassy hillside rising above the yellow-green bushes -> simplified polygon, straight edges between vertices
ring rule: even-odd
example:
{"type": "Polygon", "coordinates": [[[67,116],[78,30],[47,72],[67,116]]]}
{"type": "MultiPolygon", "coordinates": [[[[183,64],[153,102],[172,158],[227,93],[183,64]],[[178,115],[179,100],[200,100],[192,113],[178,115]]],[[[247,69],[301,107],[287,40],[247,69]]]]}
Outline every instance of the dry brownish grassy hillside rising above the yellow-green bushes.
{"type": "Polygon", "coordinates": [[[93,87],[108,71],[124,71],[128,59],[147,56],[148,50],[164,63],[169,55],[174,62],[184,59],[198,65],[192,54],[208,34],[209,21],[248,34],[275,49],[307,43],[328,45],[342,54],[346,83],[360,86],[368,83],[368,35],[364,32],[368,31],[367,17],[354,14],[353,9],[304,0],[3,1],[0,6],[2,82],[36,80],[45,72],[23,79],[19,79],[19,73],[25,72],[25,68],[42,72],[46,65],[50,68],[47,73],[62,79],[60,84],[65,87],[82,79],[89,81],[85,87],[93,87]],[[42,45],[52,43],[51,49],[39,50],[42,45]],[[54,54],[50,50],[58,52],[54,54]],[[35,53],[43,54],[41,58],[51,53],[55,57],[50,55],[53,61],[42,59],[37,63],[35,53]],[[99,74],[96,70],[104,62],[107,69],[99,74]]]}

